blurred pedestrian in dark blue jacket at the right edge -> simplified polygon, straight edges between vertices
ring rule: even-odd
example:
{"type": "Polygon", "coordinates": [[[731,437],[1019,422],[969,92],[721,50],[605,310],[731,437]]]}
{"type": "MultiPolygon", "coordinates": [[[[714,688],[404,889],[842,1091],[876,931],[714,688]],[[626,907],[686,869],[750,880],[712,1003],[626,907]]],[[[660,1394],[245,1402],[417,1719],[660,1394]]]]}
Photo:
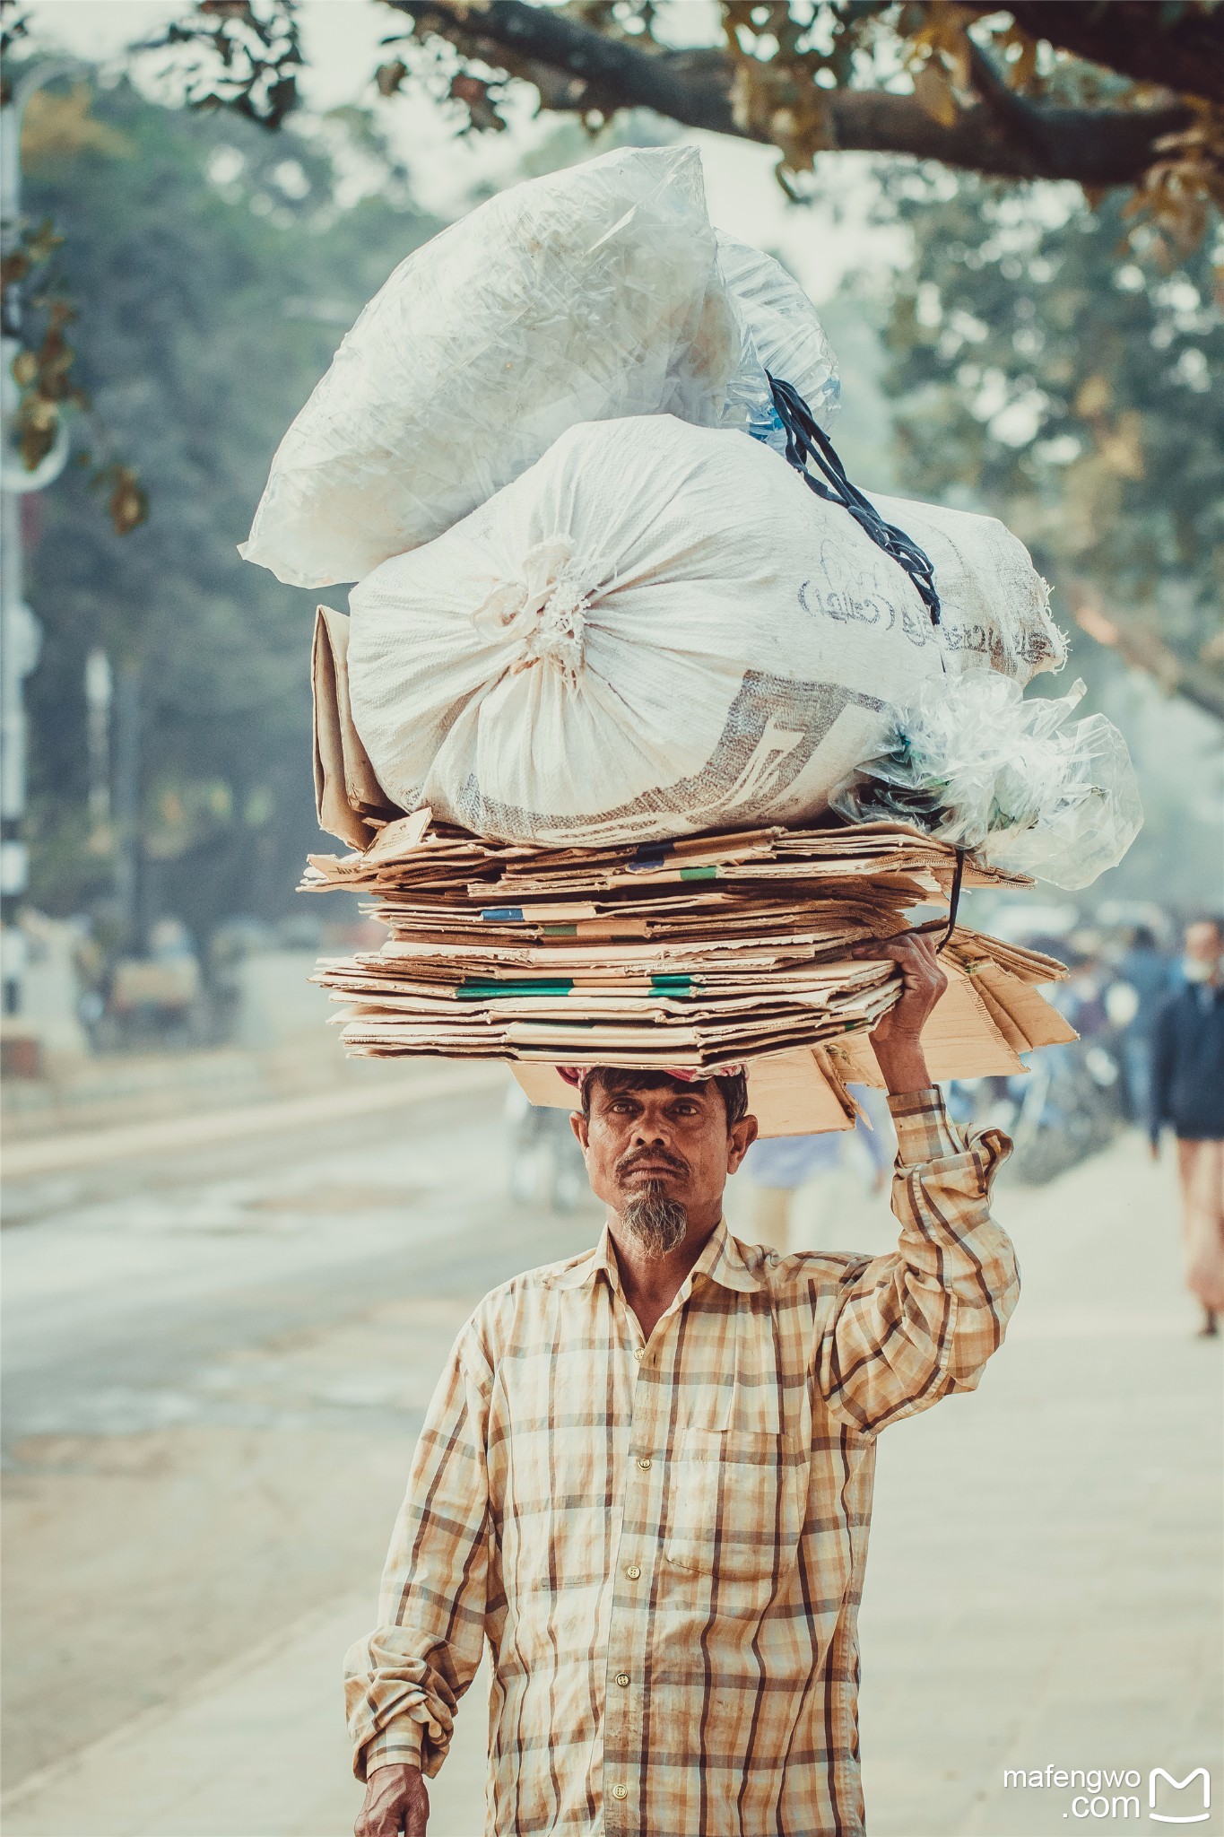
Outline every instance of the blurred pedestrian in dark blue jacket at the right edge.
{"type": "Polygon", "coordinates": [[[1185,1282],[1202,1302],[1202,1334],[1215,1335],[1224,1312],[1224,920],[1185,928],[1182,974],[1152,1036],[1152,1159],[1173,1124],[1185,1282]]]}

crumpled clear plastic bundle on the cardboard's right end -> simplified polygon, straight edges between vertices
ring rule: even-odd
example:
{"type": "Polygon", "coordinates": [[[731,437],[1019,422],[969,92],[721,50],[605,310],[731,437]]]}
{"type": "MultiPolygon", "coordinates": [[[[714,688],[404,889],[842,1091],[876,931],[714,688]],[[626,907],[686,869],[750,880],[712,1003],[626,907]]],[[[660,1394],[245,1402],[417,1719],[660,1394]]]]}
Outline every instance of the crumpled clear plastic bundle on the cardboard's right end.
{"type": "Polygon", "coordinates": [[[881,751],[829,803],[851,823],[916,823],[993,867],[1068,891],[1116,867],[1143,823],[1121,733],[1068,726],[1085,694],[1026,702],[995,671],[925,682],[881,751]]]}

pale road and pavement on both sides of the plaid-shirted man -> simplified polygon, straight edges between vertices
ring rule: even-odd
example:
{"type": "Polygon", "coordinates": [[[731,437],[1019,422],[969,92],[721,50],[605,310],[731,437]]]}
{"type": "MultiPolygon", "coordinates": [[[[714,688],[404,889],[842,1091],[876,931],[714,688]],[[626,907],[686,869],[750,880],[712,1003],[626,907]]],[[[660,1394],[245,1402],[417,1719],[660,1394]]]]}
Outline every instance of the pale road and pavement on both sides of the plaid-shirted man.
{"type": "MultiPolygon", "coordinates": [[[[505,1172],[486,1091],[13,1192],[6,1837],[349,1828],[339,1655],[446,1347],[484,1288],[598,1229],[510,1205],[505,1172]]],[[[1191,1337],[1169,1170],[1121,1143],[1000,1205],[1007,1347],[881,1446],[873,1837],[1068,1828],[1070,1791],[1004,1769],[1140,1771],[1143,1817],[1151,1767],[1224,1791],[1218,1348],[1191,1337]]],[[[888,1242],[862,1201],[840,1225],[888,1242]]],[[[431,1837],[479,1837],[479,1696],[431,1837]]]]}

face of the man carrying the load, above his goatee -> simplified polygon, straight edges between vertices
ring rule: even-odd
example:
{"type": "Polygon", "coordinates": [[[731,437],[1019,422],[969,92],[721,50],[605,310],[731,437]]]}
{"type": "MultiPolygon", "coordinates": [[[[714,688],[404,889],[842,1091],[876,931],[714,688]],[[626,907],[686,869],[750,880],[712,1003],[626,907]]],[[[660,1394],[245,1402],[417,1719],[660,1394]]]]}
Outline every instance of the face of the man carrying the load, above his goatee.
{"type": "Polygon", "coordinates": [[[681,1089],[607,1091],[591,1086],[591,1115],[573,1126],[587,1157],[591,1190],[617,1218],[648,1192],[684,1207],[688,1236],[708,1233],[723,1211],[723,1187],[756,1137],[756,1117],[730,1130],[712,1080],[681,1089]]]}

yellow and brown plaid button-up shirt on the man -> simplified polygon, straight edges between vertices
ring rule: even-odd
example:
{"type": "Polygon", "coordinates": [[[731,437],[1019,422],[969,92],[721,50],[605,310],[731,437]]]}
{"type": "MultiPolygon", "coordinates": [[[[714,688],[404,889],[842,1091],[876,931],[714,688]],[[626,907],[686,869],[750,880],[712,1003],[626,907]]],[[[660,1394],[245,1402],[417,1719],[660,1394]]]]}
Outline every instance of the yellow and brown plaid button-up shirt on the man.
{"type": "Polygon", "coordinates": [[[892,1099],[888,1257],[721,1223],[642,1343],[607,1233],[464,1326],[420,1435],[356,1771],[446,1758],[492,1646],[490,1837],[859,1833],[857,1607],[875,1435],[971,1391],[1018,1293],[1007,1139],[892,1099]]]}

